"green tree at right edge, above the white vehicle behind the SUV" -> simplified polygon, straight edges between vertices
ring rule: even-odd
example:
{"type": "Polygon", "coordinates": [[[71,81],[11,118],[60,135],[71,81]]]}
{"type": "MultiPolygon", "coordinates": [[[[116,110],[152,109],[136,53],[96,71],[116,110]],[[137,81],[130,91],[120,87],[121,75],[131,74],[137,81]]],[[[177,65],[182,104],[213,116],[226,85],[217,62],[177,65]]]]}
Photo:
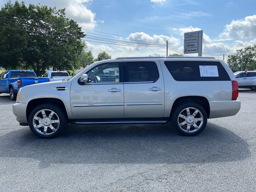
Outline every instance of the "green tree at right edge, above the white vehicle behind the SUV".
{"type": "Polygon", "coordinates": [[[248,46],[244,49],[236,50],[236,53],[228,56],[228,66],[233,72],[241,70],[243,62],[243,69],[256,70],[256,45],[248,46]],[[242,60],[243,51],[243,60],[242,60]]]}

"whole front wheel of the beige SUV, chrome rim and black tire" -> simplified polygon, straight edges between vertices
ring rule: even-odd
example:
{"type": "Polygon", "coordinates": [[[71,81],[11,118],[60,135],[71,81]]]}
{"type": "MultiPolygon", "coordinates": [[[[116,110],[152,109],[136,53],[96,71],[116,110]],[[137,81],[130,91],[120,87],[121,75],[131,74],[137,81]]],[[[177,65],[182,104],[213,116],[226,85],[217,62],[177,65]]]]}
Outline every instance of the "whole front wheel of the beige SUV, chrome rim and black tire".
{"type": "Polygon", "coordinates": [[[41,138],[53,138],[66,126],[66,114],[56,104],[42,104],[28,118],[30,130],[41,138]]]}

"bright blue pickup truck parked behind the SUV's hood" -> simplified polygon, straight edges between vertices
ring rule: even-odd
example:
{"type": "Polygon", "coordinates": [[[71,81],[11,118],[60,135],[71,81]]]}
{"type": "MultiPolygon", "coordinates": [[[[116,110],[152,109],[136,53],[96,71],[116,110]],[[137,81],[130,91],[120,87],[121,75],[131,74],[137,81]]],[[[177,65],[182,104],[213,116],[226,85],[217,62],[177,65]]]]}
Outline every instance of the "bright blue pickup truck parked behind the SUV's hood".
{"type": "Polygon", "coordinates": [[[50,81],[50,78],[37,77],[34,71],[8,70],[0,74],[0,94],[10,93],[10,99],[16,100],[18,90],[24,86],[50,81]]]}

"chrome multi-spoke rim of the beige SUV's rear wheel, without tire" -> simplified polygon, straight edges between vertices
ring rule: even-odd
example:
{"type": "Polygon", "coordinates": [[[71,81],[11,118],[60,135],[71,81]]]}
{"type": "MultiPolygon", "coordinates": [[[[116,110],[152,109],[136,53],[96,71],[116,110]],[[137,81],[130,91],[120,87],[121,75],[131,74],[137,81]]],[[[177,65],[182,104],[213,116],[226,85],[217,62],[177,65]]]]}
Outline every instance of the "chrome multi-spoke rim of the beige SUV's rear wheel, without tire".
{"type": "Polygon", "coordinates": [[[200,110],[188,107],[182,110],[178,116],[178,125],[184,132],[196,132],[202,127],[204,118],[200,110]]]}

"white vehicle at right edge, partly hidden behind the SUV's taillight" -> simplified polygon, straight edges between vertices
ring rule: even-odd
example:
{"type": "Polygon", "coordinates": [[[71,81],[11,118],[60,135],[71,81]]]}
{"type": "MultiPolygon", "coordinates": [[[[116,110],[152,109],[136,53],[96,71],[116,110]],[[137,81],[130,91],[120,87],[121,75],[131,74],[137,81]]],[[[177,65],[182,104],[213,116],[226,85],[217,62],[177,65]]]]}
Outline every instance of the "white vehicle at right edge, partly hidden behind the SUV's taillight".
{"type": "Polygon", "coordinates": [[[238,71],[234,72],[238,87],[256,89],[256,71],[238,71]]]}

